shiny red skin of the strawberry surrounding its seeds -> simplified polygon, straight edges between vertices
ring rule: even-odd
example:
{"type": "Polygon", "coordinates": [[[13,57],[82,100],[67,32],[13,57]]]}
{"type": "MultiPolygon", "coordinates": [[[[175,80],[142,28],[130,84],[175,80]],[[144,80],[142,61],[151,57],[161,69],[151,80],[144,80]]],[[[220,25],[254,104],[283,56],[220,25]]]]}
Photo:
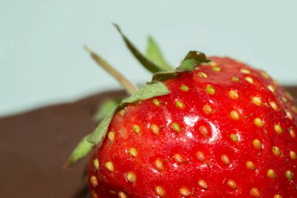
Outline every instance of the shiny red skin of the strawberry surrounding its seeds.
{"type": "Polygon", "coordinates": [[[114,141],[110,142],[106,135],[89,161],[89,188],[94,198],[118,197],[111,195],[110,189],[124,192],[127,198],[158,198],[156,186],[160,186],[168,198],[182,198],[181,188],[193,191],[189,198],[255,198],[251,195],[252,188],[259,190],[261,198],[274,198],[277,194],[282,198],[297,198],[297,160],[290,157],[290,151],[297,152],[297,140],[289,130],[297,131],[292,100],[283,88],[270,77],[266,79],[259,70],[227,57],[210,59],[222,70],[214,71],[212,66],[201,65],[194,72],[182,73],[179,78],[164,82],[170,94],[155,97],[161,104],[155,105],[152,99],[147,99],[138,105],[130,104],[123,117],[119,113],[114,116],[108,128],[108,132],[115,132],[114,141]],[[250,74],[242,73],[241,68],[249,69],[250,74]],[[208,77],[198,76],[199,72],[208,77]],[[254,83],[247,82],[246,76],[252,77],[254,83]],[[240,81],[234,82],[232,77],[238,77],[240,81]],[[188,86],[189,91],[183,91],[182,85],[188,86]],[[205,91],[207,85],[214,88],[213,95],[205,91]],[[275,93],[267,85],[272,85],[275,93]],[[237,91],[239,98],[231,98],[230,90],[237,91]],[[253,103],[251,98],[254,96],[262,99],[263,104],[253,103]],[[183,108],[176,105],[177,100],[184,103],[183,108]],[[270,101],[275,101],[280,109],[271,108],[270,101]],[[214,110],[211,114],[203,111],[205,104],[214,110]],[[293,120],[284,109],[292,112],[293,120]],[[232,110],[239,112],[240,120],[232,119],[232,110]],[[263,128],[254,124],[255,118],[262,119],[263,128]],[[173,122],[179,124],[180,133],[172,129],[173,122]],[[140,126],[140,134],[132,130],[134,124],[140,126]],[[158,135],[150,130],[152,124],[162,126],[158,135]],[[275,124],[282,126],[283,134],[276,133],[275,124]],[[209,131],[207,137],[198,130],[202,125],[209,131]],[[237,135],[238,142],[232,141],[231,134],[237,135]],[[254,139],[262,143],[261,152],[254,148],[254,139]],[[275,146],[283,156],[272,152],[275,146]],[[136,148],[136,158],[129,155],[129,148],[136,148]],[[205,162],[198,160],[197,151],[204,153],[205,162]],[[176,153],[181,154],[185,162],[177,163],[173,159],[176,153]],[[223,154],[229,157],[230,165],[223,163],[223,154]],[[96,157],[99,170],[94,168],[96,157]],[[162,171],[155,168],[156,159],[164,162],[162,171]],[[113,163],[113,172],[105,168],[107,161],[113,163]],[[254,163],[255,171],[247,168],[247,161],[254,163]],[[267,176],[268,169],[275,171],[276,179],[267,176]],[[293,181],[285,176],[286,170],[292,171],[293,181]],[[128,172],[136,176],[133,184],[126,179],[128,172]],[[90,183],[92,175],[98,179],[99,185],[95,187],[90,183]],[[204,180],[208,189],[201,189],[198,180],[204,180]],[[237,190],[228,186],[229,180],[235,181],[237,190]]]}

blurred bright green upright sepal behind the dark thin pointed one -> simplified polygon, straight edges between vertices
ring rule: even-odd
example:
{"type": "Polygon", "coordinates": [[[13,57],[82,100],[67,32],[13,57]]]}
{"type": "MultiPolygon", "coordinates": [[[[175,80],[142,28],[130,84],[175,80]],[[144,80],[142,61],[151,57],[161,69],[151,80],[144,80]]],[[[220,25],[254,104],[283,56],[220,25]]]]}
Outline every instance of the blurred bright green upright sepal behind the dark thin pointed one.
{"type": "Polygon", "coordinates": [[[172,71],[173,68],[163,59],[160,49],[151,37],[148,37],[147,56],[153,63],[164,71],[172,71]]]}

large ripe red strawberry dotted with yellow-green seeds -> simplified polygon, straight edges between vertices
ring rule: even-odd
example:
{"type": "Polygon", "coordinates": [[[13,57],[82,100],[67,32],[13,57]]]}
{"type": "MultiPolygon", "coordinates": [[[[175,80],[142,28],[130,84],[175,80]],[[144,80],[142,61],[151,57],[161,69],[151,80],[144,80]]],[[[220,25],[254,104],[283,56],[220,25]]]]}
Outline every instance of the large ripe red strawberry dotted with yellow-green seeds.
{"type": "Polygon", "coordinates": [[[264,71],[191,51],[89,137],[91,195],[296,198],[296,120],[293,97],[264,71]]]}

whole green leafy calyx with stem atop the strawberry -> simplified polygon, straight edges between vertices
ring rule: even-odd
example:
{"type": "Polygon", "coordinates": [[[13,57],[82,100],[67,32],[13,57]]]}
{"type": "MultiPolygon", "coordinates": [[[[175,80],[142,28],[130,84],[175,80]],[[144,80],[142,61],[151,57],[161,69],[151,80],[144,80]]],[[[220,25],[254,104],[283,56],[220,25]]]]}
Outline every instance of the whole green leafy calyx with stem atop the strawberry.
{"type": "Polygon", "coordinates": [[[97,112],[97,114],[99,115],[99,118],[102,119],[102,121],[91,134],[85,136],[79,142],[79,144],[76,146],[76,148],[73,150],[72,154],[68,158],[68,161],[64,166],[65,168],[72,166],[79,159],[87,156],[92,151],[95,145],[101,145],[114,114],[122,110],[124,111],[128,103],[140,102],[141,100],[151,99],[157,96],[164,96],[169,94],[170,92],[167,86],[163,84],[162,81],[177,78],[179,77],[179,74],[183,72],[193,72],[194,68],[199,64],[207,63],[210,61],[204,53],[199,51],[190,51],[184,58],[184,61],[176,69],[173,70],[173,68],[163,60],[160,50],[151,38],[149,38],[148,40],[147,53],[148,58],[150,58],[148,59],[127,39],[127,37],[121,32],[118,25],[113,25],[117,28],[118,32],[123,37],[128,49],[130,49],[133,55],[142,63],[142,65],[146,69],[148,69],[148,71],[154,73],[152,81],[148,82],[147,85],[141,87],[140,89],[137,89],[133,85],[133,83],[122,76],[111,65],[103,60],[103,58],[101,58],[90,48],[85,47],[85,49],[90,52],[92,58],[120,82],[122,87],[130,95],[130,97],[122,99],[120,102],[115,100],[113,102],[110,102],[110,105],[106,107],[107,112],[105,109],[105,112],[101,113],[103,108],[99,109],[99,112],[97,112]],[[155,51],[154,54],[152,51],[155,51]],[[157,65],[154,62],[159,64],[157,65]]]}

